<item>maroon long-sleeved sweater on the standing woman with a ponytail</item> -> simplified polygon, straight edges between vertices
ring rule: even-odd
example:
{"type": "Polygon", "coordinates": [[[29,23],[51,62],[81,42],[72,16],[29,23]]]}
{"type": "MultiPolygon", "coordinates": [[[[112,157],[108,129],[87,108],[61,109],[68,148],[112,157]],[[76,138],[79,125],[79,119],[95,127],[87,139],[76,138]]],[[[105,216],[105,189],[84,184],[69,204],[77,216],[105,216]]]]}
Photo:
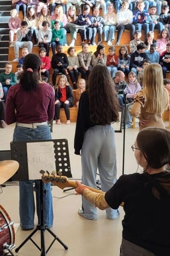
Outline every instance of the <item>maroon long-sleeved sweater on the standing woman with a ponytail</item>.
{"type": "Polygon", "coordinates": [[[5,121],[35,123],[51,121],[54,117],[54,89],[49,84],[39,84],[27,92],[21,84],[11,86],[6,99],[5,121]],[[17,113],[15,113],[15,110],[17,113]]]}

